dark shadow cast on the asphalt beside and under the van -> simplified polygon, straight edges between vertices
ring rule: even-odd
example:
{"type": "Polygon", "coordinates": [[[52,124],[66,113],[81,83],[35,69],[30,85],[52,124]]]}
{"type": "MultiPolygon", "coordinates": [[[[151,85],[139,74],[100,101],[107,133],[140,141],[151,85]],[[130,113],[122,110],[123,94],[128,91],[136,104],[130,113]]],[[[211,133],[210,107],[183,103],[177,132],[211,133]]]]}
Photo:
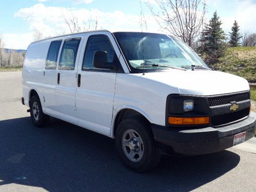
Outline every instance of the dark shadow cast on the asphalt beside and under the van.
{"type": "Polygon", "coordinates": [[[49,191],[188,191],[236,167],[240,156],[223,151],[195,157],[164,156],[150,173],[126,169],[113,139],[53,119],[0,121],[0,185],[18,183],[49,191]]]}

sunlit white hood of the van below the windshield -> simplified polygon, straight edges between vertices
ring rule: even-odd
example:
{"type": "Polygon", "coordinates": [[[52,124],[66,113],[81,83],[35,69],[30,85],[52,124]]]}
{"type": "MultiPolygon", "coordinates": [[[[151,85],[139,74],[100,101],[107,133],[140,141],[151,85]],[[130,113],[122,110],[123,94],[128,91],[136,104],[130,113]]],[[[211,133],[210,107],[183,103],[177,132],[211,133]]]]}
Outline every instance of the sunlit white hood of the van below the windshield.
{"type": "Polygon", "coordinates": [[[219,71],[172,69],[145,73],[142,77],[177,88],[179,94],[186,95],[208,96],[249,90],[249,84],[246,79],[219,71]]]}

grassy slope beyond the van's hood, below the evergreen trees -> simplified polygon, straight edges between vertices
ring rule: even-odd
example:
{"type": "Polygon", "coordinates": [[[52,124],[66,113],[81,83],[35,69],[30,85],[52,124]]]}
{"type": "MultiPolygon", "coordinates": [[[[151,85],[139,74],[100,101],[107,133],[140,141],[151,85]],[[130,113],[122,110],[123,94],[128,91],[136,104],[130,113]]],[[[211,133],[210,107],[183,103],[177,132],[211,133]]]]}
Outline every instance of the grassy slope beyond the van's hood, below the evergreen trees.
{"type": "Polygon", "coordinates": [[[216,70],[256,82],[256,47],[228,48],[219,60],[219,63],[212,66],[216,70]]]}

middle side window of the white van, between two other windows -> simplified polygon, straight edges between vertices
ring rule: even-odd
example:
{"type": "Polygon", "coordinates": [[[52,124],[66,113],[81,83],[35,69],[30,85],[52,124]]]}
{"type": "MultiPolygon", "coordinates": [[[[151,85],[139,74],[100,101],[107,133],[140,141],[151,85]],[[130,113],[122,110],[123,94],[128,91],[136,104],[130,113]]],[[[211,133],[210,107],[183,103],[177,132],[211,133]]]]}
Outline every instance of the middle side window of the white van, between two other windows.
{"type": "Polygon", "coordinates": [[[74,70],[81,38],[66,39],[60,54],[59,70],[74,70]]]}

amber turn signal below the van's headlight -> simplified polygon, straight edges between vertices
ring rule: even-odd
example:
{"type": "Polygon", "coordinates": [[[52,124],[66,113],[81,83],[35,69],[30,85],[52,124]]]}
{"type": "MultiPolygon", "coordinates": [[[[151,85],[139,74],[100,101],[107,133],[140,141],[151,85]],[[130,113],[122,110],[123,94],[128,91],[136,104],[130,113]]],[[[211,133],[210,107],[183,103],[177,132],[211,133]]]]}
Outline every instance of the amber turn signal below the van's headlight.
{"type": "Polygon", "coordinates": [[[193,124],[208,124],[210,123],[209,117],[168,117],[169,124],[177,125],[193,125],[193,124]]]}

